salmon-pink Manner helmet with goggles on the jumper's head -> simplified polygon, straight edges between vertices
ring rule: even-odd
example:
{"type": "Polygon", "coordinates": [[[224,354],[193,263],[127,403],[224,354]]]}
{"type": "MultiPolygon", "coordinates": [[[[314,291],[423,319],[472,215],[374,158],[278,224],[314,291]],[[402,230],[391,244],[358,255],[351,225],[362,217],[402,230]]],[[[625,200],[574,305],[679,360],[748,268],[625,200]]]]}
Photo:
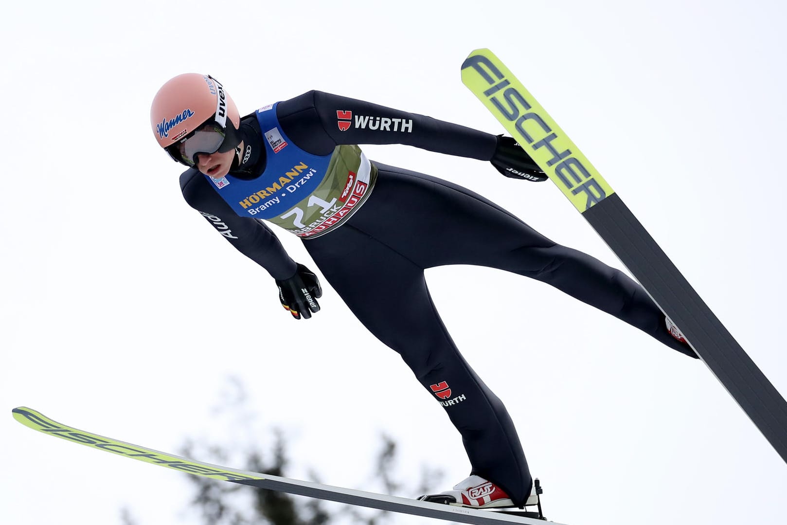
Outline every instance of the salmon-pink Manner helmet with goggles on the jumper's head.
{"type": "Polygon", "coordinates": [[[158,145],[189,167],[199,153],[225,153],[240,142],[235,102],[212,76],[184,73],[169,79],[153,98],[150,125],[158,145]]]}

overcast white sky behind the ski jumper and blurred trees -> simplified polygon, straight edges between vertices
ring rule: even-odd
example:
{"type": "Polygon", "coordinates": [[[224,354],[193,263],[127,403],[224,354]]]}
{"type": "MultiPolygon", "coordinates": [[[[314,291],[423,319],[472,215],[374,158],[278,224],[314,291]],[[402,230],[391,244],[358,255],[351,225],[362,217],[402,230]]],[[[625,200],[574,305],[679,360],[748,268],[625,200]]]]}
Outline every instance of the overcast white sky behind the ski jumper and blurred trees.
{"type": "MultiPolygon", "coordinates": [[[[4,6],[2,521],[120,523],[127,505],[144,525],[195,523],[183,475],[33,433],[10,410],[161,450],[188,436],[227,445],[246,440],[213,410],[230,375],[249,390],[260,444],[269,427],[290,434],[295,477],[311,466],[367,489],[383,431],[400,442],[400,475],[467,475],[442,408],[330,288],[314,319],[290,320],[267,273],[185,204],[149,128],[153,94],[180,72],[216,76],[242,113],[319,89],[499,133],[460,82],[464,57],[489,47],[787,393],[785,18],[765,0],[4,6]]],[[[365,150],[619,265],[551,183],[365,150]]],[[[428,278],[506,402],[550,519],[784,523],[787,466],[703,364],[529,279],[471,267],[428,278]]]]}

